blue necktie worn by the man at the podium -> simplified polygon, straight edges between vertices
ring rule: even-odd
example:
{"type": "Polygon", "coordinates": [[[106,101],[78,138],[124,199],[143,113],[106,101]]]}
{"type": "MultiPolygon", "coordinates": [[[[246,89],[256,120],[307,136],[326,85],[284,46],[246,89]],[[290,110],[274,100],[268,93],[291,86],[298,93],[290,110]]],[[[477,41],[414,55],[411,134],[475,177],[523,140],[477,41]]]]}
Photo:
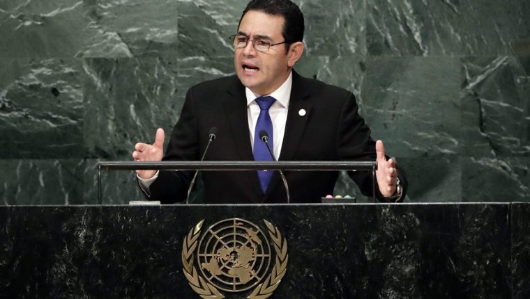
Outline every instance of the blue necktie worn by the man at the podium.
{"type": "MultiPolygon", "coordinates": [[[[273,161],[271,153],[268,152],[267,145],[259,138],[260,131],[266,131],[268,134],[268,145],[271,149],[274,148],[273,138],[273,122],[271,115],[268,114],[268,108],[273,106],[276,99],[273,97],[258,97],[256,102],[259,106],[259,117],[256,122],[256,130],[254,131],[254,160],[255,161],[273,161]]],[[[262,191],[265,193],[268,183],[273,176],[272,170],[258,170],[259,184],[262,186],[262,191]]]]}

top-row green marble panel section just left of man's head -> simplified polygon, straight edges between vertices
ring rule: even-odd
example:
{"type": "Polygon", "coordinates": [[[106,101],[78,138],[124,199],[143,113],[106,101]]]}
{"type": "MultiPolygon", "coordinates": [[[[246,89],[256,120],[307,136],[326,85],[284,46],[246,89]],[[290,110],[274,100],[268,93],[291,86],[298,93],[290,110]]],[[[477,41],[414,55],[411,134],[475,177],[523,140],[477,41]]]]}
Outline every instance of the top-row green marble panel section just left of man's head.
{"type": "Polygon", "coordinates": [[[229,36],[237,33],[246,1],[179,1],[179,57],[232,56],[229,36]]]}

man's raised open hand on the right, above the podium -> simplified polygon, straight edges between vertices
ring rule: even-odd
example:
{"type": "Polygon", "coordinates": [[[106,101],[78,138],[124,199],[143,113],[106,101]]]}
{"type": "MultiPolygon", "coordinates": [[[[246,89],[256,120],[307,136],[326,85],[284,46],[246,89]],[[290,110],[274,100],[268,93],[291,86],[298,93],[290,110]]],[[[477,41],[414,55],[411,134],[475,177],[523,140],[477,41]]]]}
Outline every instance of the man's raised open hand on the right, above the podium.
{"type": "Polygon", "coordinates": [[[385,147],[383,141],[377,140],[375,143],[375,152],[377,153],[377,170],[375,177],[377,178],[377,185],[379,191],[384,197],[391,197],[394,195],[398,186],[398,170],[395,168],[394,159],[386,160],[385,147]]]}

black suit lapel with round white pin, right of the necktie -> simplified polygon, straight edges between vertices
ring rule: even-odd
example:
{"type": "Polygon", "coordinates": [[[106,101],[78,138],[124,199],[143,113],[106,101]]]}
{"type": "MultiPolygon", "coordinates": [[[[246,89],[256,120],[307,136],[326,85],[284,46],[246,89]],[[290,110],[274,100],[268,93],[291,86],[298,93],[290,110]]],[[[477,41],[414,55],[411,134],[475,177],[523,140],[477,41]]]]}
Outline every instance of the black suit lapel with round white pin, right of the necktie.
{"type": "MultiPolygon", "coordinates": [[[[287,122],[285,124],[285,134],[280,152],[280,161],[292,161],[296,150],[302,140],[305,124],[311,115],[311,104],[309,86],[304,86],[303,78],[293,70],[293,83],[291,88],[291,98],[289,99],[289,111],[287,111],[287,122]],[[305,113],[305,114],[304,114],[305,113]]],[[[274,172],[271,184],[265,193],[265,199],[280,184],[279,172],[274,172]]]]}

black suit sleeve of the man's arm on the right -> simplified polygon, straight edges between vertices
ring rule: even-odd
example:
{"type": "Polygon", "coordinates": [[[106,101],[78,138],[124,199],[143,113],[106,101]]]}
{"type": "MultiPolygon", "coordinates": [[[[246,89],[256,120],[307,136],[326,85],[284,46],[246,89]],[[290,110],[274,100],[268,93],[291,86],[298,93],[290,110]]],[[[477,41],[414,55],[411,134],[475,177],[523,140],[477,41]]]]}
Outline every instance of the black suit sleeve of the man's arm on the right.
{"type": "MultiPolygon", "coordinates": [[[[355,96],[348,92],[347,98],[342,106],[340,120],[337,132],[337,148],[340,160],[345,161],[375,161],[377,154],[375,152],[375,140],[370,136],[371,130],[365,123],[361,115],[358,114],[358,106],[355,96]]],[[[388,159],[388,156],[386,157],[388,159]]],[[[361,171],[349,171],[349,177],[353,179],[365,196],[372,196],[375,190],[375,197],[380,202],[388,202],[388,199],[381,195],[379,188],[376,186],[372,189],[372,173],[361,171]]],[[[403,186],[403,193],[400,199],[404,198],[407,191],[407,179],[404,171],[398,167],[398,177],[403,186]]]]}

